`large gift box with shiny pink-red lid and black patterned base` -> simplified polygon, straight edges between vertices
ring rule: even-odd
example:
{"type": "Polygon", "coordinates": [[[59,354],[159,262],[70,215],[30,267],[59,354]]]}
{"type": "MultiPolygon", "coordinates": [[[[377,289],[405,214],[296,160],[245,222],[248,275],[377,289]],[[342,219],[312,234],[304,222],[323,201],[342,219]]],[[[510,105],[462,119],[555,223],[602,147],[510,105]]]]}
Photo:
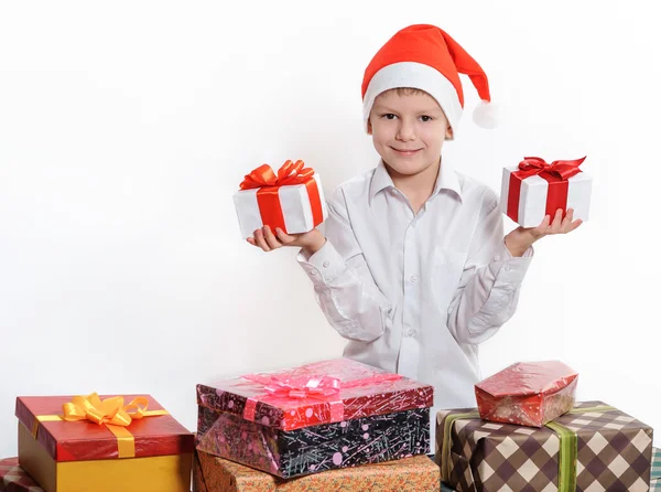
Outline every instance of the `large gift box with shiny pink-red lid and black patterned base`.
{"type": "Polygon", "coordinates": [[[291,478],[429,452],[433,387],[338,359],[197,386],[197,449],[291,478]]]}

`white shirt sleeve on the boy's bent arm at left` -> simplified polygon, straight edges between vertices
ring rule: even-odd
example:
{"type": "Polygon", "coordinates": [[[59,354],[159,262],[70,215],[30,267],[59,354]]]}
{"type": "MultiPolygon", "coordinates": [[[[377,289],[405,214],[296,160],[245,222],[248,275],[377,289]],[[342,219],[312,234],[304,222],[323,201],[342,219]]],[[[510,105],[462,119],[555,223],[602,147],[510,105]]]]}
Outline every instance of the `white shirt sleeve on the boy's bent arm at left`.
{"type": "Polygon", "coordinates": [[[377,287],[349,221],[342,190],[328,202],[326,243],[299,264],[330,325],[345,339],[371,342],[392,325],[393,308],[377,287]]]}

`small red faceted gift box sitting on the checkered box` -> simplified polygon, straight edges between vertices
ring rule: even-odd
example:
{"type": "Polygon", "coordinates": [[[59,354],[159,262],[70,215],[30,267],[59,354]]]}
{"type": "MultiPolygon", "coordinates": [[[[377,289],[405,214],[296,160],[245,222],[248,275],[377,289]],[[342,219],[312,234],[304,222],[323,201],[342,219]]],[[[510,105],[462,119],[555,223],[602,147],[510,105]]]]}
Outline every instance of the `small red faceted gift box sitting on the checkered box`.
{"type": "Polygon", "coordinates": [[[485,420],[541,427],[574,407],[578,374],[562,362],[517,363],[475,385],[485,420]]]}

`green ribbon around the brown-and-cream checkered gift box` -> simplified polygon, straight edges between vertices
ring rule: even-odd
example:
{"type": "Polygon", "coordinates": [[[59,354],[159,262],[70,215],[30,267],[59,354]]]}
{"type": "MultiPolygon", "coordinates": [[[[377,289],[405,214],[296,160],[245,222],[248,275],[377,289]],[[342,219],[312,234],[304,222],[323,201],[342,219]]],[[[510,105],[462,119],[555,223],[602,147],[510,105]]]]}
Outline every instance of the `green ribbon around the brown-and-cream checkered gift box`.
{"type": "MultiPolygon", "coordinates": [[[[589,411],[611,411],[615,407],[609,405],[599,405],[596,407],[573,408],[568,414],[587,414],[589,411]]],[[[441,447],[441,480],[449,483],[449,461],[452,428],[456,420],[479,418],[477,411],[464,414],[451,414],[445,417],[443,423],[443,443],[441,447]]],[[[578,461],[578,437],[576,432],[557,421],[550,421],[545,427],[554,431],[560,438],[560,452],[557,459],[557,491],[576,491],[576,463],[578,461]]]]}

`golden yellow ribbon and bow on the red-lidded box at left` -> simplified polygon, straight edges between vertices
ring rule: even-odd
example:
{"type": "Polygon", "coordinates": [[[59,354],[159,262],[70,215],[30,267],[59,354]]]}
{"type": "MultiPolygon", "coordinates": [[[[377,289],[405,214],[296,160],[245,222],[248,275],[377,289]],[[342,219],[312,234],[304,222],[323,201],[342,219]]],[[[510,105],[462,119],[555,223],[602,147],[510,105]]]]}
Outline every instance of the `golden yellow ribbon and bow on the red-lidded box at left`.
{"type": "Polygon", "coordinates": [[[128,405],[123,396],[113,396],[101,400],[93,393],[88,396],[74,396],[72,402],[62,405],[63,415],[37,415],[32,426],[32,436],[36,439],[39,424],[44,421],[82,421],[87,420],[99,426],[105,425],[117,438],[118,458],[136,457],[136,439],[127,429],[133,420],[158,415],[169,415],[167,410],[148,410],[144,396],[133,398],[128,405]]]}

